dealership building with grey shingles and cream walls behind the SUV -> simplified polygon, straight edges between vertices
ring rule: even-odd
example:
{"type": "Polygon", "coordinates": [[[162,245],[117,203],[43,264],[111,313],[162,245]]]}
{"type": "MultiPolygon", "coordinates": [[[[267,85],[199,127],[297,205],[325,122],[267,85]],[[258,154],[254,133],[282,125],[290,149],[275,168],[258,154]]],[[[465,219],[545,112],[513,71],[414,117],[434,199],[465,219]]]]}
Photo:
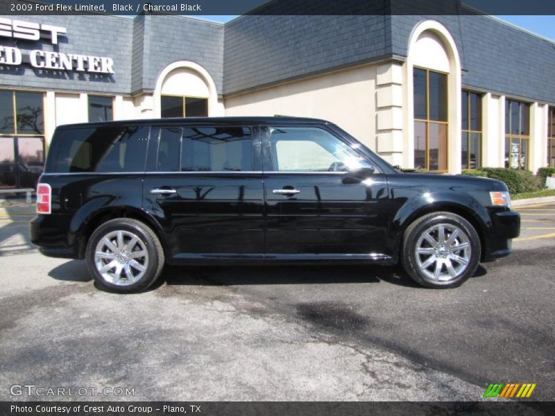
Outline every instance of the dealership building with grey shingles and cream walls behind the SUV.
{"type": "Polygon", "coordinates": [[[483,15],[0,18],[0,187],[57,125],[327,119],[392,164],[555,166],[555,43],[483,15]]]}

